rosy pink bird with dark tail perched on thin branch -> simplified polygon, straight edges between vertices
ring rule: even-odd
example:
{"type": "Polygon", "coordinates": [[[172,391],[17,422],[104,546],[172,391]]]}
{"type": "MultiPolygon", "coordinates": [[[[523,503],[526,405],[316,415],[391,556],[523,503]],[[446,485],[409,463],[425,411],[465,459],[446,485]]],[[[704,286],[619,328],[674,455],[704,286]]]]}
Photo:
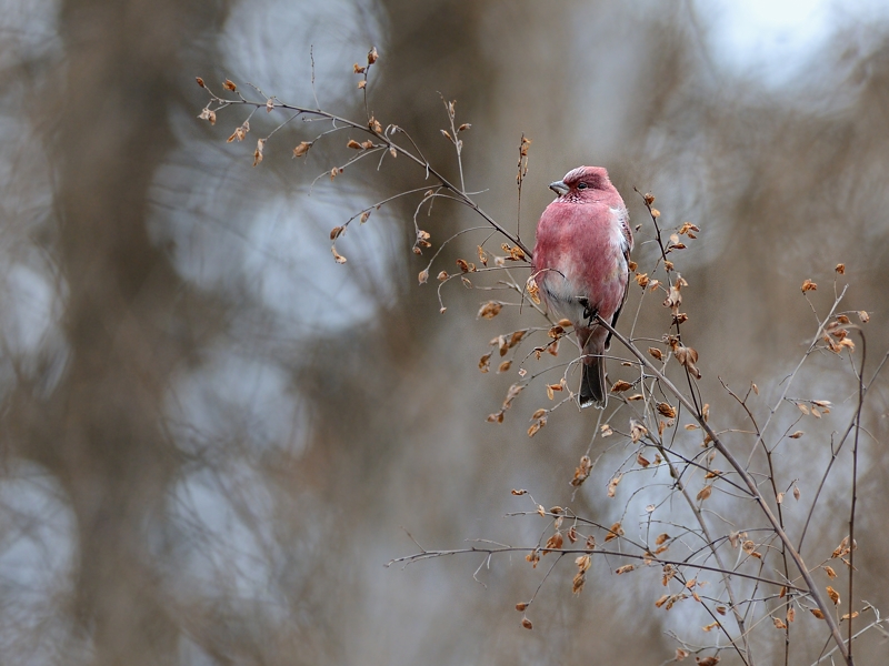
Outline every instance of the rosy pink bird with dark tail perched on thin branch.
{"type": "Polygon", "coordinates": [[[550,312],[571,321],[582,352],[580,406],[605,407],[605,352],[630,283],[632,232],[620,193],[601,167],[578,167],[550,184],[558,194],[540,216],[533,278],[550,312]]]}

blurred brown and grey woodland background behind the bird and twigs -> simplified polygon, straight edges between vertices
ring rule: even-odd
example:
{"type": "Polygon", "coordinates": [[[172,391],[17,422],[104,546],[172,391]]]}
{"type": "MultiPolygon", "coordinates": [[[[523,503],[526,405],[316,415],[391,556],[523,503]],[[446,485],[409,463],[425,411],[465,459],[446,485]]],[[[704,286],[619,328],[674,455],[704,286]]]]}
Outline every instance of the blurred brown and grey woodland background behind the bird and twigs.
{"type": "MultiPolygon", "coordinates": [[[[227,144],[247,112],[199,121],[194,77],[313,105],[313,75],[321,107],[361,119],[352,63],[376,46],[372,113],[456,178],[439,93],[457,100],[472,123],[467,186],[509,229],[519,138],[532,139],[529,244],[547,184],[601,164],[643,225],[646,270],[652,234],[632,190],[655,192],[666,226],[701,229],[677,259],[683,333],[716,423],[740,427],[718,377],[757,382],[767,413],[817,330],[805,279],[823,316],[845,262],[841,310],[870,312],[868,373],[889,344],[883,3],[2,0],[0,17],[4,664],[661,664],[678,645],[669,632],[717,640],[697,629],[709,619],[655,609],[659,572],[613,576],[622,562],[597,561],[579,596],[570,563],[558,568],[532,632],[512,607],[547,567],[521,555],[492,561],[481,584],[480,557],[384,568],[417,551],[408,532],[427,548],[537,543],[542,519],[505,517],[531,507],[513,487],[636,529],[630,491],[605,496],[627,450],[572,498],[599,414],[562,408],[528,438],[548,404],[540,384],[486,423],[518,365],[482,375],[479,356],[541,322],[518,309],[477,320],[490,294],[456,282],[440,314],[434,285],[417,284],[430,254],[410,252],[417,200],[351,228],[338,243],[348,263],[332,261],[332,226],[422,188],[422,173],[374,162],[310,191],[350,155],[340,133],[291,159],[320,127],[299,122],[252,169],[272,119],[254,115],[246,143],[227,144]]],[[[440,205],[421,226],[437,249],[479,223],[440,205]]],[[[473,260],[485,235],[455,242],[432,275],[473,260]]],[[[647,304],[635,332],[659,339],[666,311],[647,304]]],[[[779,485],[802,491],[796,534],[855,392],[848,359],[817,354],[789,394],[830,400],[837,417],[779,450],[779,485]]],[[[878,382],[866,410],[856,532],[857,586],[883,612],[888,396],[878,382]]],[[[847,534],[848,453],[807,536],[813,564],[847,534]]],[[[799,626],[790,663],[810,664],[827,636],[799,626]]],[[[777,663],[783,634],[765,632],[758,663],[777,663]]],[[[878,632],[858,649],[862,664],[889,655],[878,632]]]]}

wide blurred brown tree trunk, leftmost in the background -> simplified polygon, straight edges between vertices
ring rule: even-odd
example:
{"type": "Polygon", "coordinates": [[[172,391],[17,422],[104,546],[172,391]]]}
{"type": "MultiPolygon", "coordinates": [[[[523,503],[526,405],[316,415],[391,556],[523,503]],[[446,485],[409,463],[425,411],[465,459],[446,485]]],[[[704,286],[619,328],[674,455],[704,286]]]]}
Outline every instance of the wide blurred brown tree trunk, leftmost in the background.
{"type": "Polygon", "coordinates": [[[151,242],[148,221],[152,176],[173,145],[168,117],[184,78],[183,36],[219,19],[209,13],[219,4],[200,4],[62,2],[64,80],[43,100],[69,356],[48,396],[20,386],[11,412],[19,453],[69,493],[73,613],[99,665],[169,663],[177,649],[152,567],[152,513],[177,468],[161,431],[164,393],[192,349],[187,317],[199,304],[151,242]]]}

